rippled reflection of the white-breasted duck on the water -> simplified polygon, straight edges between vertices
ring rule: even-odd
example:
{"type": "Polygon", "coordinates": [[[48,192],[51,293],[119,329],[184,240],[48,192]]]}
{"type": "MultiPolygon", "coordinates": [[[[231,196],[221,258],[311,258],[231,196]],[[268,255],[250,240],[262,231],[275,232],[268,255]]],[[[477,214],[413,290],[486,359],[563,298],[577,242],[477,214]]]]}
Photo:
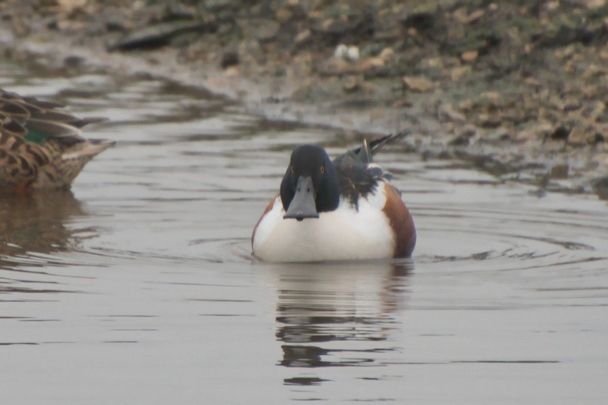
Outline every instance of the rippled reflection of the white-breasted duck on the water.
{"type": "MultiPolygon", "coordinates": [[[[379,342],[399,327],[392,314],[406,305],[412,260],[269,268],[277,279],[276,336],[284,342],[281,366],[364,366],[377,364],[373,353],[394,350],[393,344],[379,342]],[[343,348],[336,349],[337,344],[343,348]]],[[[320,381],[296,376],[285,383],[320,381]]]]}

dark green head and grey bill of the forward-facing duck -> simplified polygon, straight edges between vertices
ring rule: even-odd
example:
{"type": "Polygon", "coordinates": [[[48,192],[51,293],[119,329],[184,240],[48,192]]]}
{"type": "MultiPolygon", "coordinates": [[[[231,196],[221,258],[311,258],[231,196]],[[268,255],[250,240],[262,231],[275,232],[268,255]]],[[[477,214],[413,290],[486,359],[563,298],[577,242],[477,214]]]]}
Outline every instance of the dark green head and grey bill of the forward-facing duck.
{"type": "Polygon", "coordinates": [[[319,218],[319,213],[333,211],[340,203],[340,185],[336,168],[325,149],[315,145],[295,148],[283,181],[281,200],[283,218],[319,218]]]}

